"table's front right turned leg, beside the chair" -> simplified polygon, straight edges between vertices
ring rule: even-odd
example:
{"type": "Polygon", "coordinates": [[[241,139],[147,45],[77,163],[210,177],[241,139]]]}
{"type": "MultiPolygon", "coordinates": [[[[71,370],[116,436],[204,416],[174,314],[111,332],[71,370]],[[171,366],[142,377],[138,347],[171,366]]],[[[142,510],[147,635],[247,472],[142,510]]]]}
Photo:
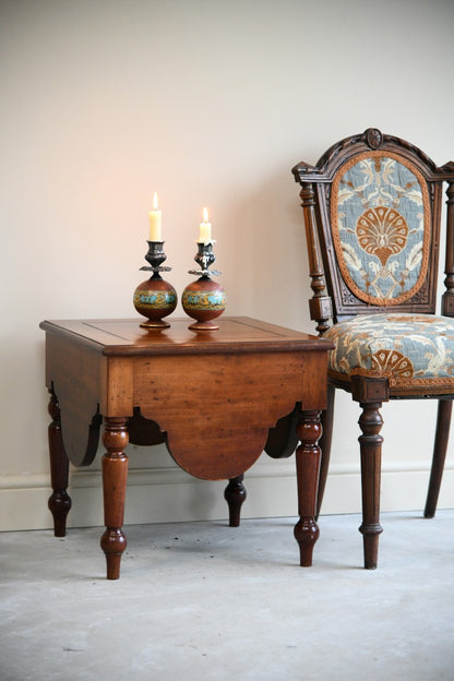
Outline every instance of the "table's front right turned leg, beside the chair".
{"type": "Polygon", "coordinates": [[[318,441],[322,434],[320,411],[302,411],[297,432],[301,441],[296,451],[299,521],[294,534],[299,545],[300,565],[309,568],[319,538],[315,515],[321,459],[318,441]]]}

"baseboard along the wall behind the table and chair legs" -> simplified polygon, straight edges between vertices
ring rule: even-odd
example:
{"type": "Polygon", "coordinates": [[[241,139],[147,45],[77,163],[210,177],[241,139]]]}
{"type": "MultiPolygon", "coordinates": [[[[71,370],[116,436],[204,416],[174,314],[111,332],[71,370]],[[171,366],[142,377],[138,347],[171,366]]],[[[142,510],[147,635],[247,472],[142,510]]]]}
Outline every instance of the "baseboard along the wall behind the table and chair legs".
{"type": "MultiPolygon", "coordinates": [[[[248,498],[241,516],[278,517],[297,515],[297,488],[294,457],[272,461],[262,457],[247,474],[248,498]]],[[[0,476],[0,531],[43,529],[52,526],[47,500],[50,494],[47,473],[0,476]]],[[[420,463],[394,463],[383,467],[382,511],[422,510],[429,467],[420,463]]],[[[124,524],[184,521],[225,521],[225,481],[196,480],[177,466],[131,469],[124,524]]],[[[104,525],[101,476],[98,469],[71,470],[69,494],[72,509],[69,527],[104,525]]],[[[454,507],[454,465],[446,465],[439,509],[454,507]]],[[[359,513],[360,477],[357,466],[331,467],[323,502],[323,514],[359,513]]]]}

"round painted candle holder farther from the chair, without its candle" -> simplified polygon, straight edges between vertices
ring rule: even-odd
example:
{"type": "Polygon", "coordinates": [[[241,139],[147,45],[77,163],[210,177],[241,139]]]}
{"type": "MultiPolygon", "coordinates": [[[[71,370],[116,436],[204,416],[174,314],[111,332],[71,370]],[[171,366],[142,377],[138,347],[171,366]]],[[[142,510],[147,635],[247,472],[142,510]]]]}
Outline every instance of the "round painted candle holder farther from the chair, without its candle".
{"type": "Polygon", "coordinates": [[[148,252],[145,260],[151,266],[144,265],[141,270],[153,272],[153,276],[139,284],[134,290],[134,308],[147,318],[146,322],[140,324],[143,328],[168,328],[170,324],[164,322],[163,318],[174,312],[178,297],[175,288],[163,279],[160,273],[170,272],[171,267],[162,266],[167,259],[164,241],[147,241],[147,243],[148,252]]]}

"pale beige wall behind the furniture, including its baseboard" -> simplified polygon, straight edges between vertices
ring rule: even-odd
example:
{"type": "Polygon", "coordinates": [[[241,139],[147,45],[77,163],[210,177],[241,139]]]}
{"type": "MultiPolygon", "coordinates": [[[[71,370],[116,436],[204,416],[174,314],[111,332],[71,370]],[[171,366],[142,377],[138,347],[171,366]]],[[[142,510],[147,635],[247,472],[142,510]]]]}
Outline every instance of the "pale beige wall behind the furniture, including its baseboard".
{"type": "MultiPolygon", "coordinates": [[[[153,192],[179,291],[206,204],[228,313],[312,331],[290,167],[370,126],[453,158],[453,28],[450,0],[2,0],[0,528],[50,522],[38,323],[134,314],[153,192]]],[[[420,509],[432,405],[383,417],[383,509],[420,509]]],[[[357,418],[339,395],[325,512],[360,509],[357,418]]],[[[130,455],[127,522],[225,517],[223,483],[130,455]]],[[[98,468],[71,473],[73,525],[103,522],[98,468]]],[[[292,459],[248,489],[244,515],[296,514],[292,459]]]]}

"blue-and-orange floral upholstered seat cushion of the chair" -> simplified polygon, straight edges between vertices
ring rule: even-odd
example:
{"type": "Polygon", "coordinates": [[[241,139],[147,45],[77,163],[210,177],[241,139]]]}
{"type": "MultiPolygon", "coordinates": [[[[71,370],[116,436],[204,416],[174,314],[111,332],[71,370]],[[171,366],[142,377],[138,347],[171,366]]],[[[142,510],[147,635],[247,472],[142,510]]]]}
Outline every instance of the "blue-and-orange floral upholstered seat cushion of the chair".
{"type": "Polygon", "coordinates": [[[330,375],[385,377],[390,387],[454,393],[454,319],[433,314],[359,314],[326,333],[335,344],[330,375]]]}

